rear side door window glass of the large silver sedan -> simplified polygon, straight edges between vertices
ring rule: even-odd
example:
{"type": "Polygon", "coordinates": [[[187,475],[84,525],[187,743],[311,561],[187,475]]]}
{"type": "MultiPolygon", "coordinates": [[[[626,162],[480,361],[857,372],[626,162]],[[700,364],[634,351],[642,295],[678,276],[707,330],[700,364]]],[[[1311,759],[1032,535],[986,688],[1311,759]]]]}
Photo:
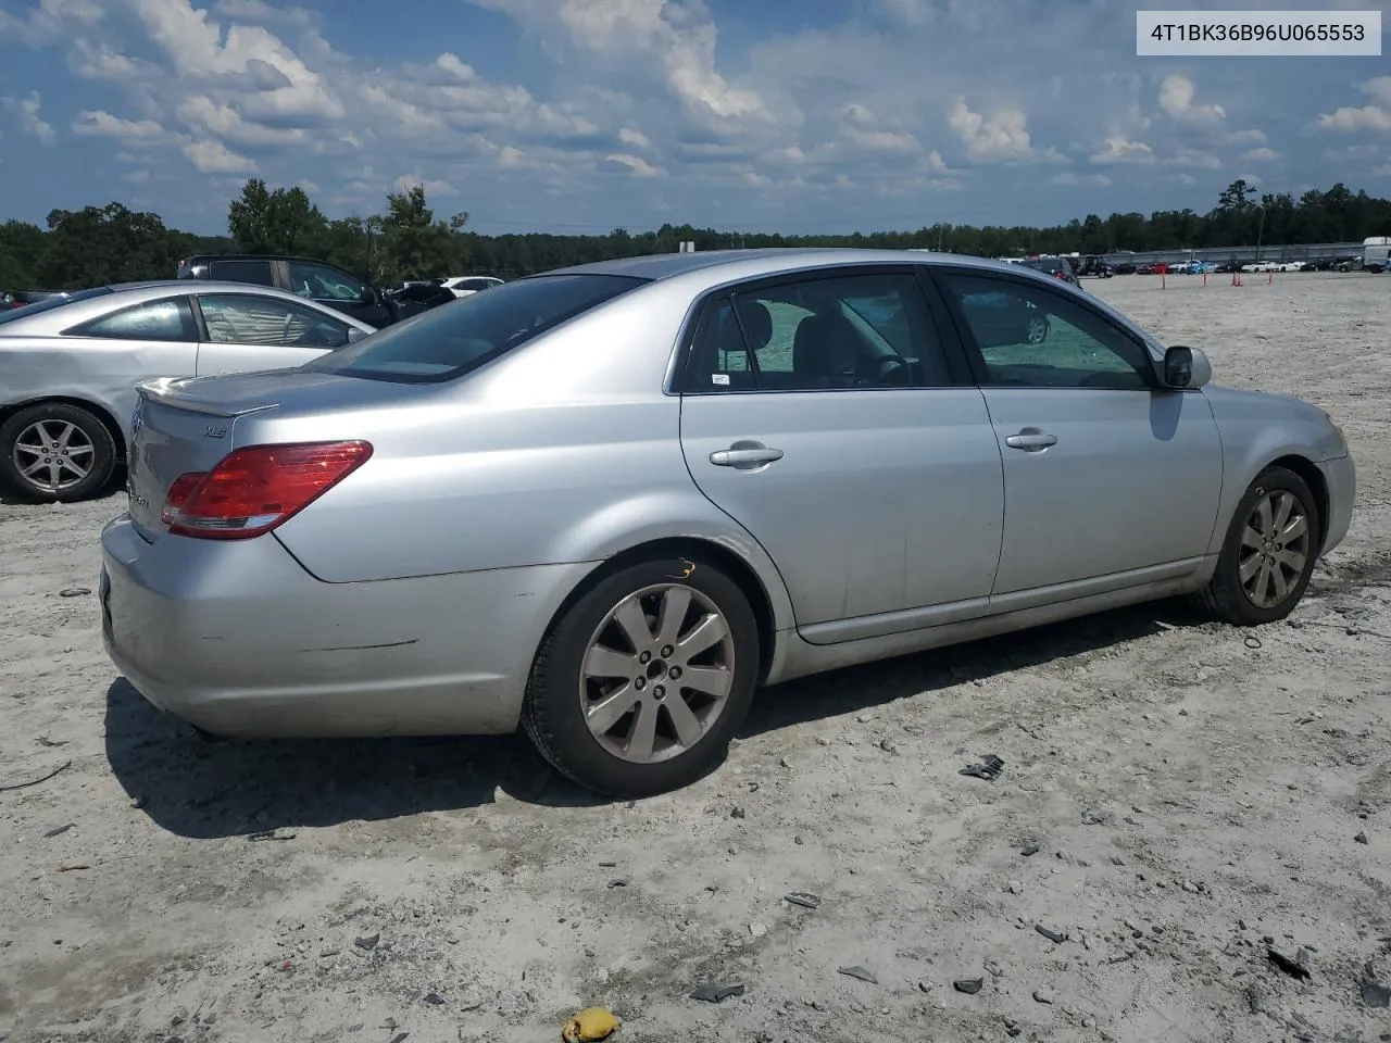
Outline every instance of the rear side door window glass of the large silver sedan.
{"type": "Polygon", "coordinates": [[[911,274],[810,278],[712,300],[687,370],[694,392],[950,384],[911,274]]]}

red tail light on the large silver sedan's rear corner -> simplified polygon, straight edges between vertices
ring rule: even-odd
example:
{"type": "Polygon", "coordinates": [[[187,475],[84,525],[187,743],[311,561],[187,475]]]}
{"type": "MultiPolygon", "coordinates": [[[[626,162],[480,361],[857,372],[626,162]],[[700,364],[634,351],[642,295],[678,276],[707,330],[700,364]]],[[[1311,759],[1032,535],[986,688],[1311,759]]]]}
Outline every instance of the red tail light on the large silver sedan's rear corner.
{"type": "Polygon", "coordinates": [[[175,535],[249,540],[288,522],[370,456],[369,442],[248,445],[207,473],[175,478],[160,515],[175,535]]]}

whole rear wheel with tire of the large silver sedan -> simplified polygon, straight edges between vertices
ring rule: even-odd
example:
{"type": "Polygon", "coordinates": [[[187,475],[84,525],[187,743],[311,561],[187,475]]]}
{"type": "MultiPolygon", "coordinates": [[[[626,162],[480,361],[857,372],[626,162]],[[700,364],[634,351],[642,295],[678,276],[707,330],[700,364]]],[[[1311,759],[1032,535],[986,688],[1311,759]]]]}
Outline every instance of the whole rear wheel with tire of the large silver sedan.
{"type": "Polygon", "coordinates": [[[645,797],[719,763],[758,680],[758,623],[729,576],[662,558],[606,576],[552,626],[522,725],[580,786],[645,797]]]}

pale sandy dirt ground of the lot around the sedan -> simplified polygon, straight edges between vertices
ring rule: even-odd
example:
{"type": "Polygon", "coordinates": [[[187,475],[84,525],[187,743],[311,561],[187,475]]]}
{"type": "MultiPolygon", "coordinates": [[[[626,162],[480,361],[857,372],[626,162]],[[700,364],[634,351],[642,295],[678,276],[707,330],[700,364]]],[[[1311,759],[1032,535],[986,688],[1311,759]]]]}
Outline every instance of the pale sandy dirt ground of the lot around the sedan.
{"type": "Polygon", "coordinates": [[[0,786],[67,765],[0,791],[0,1037],[530,1043],[606,1004],[616,1040],[1391,1039],[1391,277],[1228,282],[1086,285],[1345,426],[1356,520],[1291,622],[787,684],[636,805],[519,740],[202,743],[61,595],[122,498],[0,505],[0,786]]]}

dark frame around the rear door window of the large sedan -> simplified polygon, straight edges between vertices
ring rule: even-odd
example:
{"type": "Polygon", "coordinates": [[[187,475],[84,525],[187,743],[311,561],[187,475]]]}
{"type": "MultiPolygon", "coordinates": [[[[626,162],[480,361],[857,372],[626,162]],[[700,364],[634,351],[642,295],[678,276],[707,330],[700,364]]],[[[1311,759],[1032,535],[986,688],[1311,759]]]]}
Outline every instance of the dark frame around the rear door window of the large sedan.
{"type": "MultiPolygon", "coordinates": [[[[950,391],[956,388],[970,388],[975,387],[975,377],[970,369],[970,362],[963,350],[963,345],[956,334],[956,330],[946,323],[947,316],[944,313],[944,306],[933,299],[933,293],[929,292],[928,285],[925,285],[924,278],[926,268],[929,266],[924,261],[903,261],[903,263],[885,263],[872,261],[867,264],[828,264],[825,267],[808,267],[797,268],[796,271],[779,271],[771,275],[755,275],[753,278],[734,280],[732,282],[725,282],[719,286],[712,286],[701,292],[696,300],[691,302],[690,309],[686,313],[686,320],[682,324],[682,331],[677,339],[677,352],[675,357],[675,364],[669,369],[668,377],[664,382],[662,394],[665,395],[691,395],[691,396],[726,396],[726,395],[821,395],[821,394],[844,394],[844,392],[882,392],[882,391],[950,391]],[[918,286],[918,299],[922,303],[924,317],[928,323],[928,334],[936,335],[938,345],[943,355],[947,366],[947,377],[950,384],[944,384],[938,388],[926,388],[917,384],[910,384],[908,387],[882,387],[882,388],[729,388],[716,391],[707,387],[696,387],[696,374],[693,371],[696,359],[696,334],[700,331],[701,323],[705,317],[705,310],[715,307],[719,300],[730,299],[741,293],[755,293],[761,289],[773,289],[776,286],[794,285],[797,282],[808,282],[811,280],[836,280],[836,278],[854,278],[862,275],[903,275],[912,280],[918,286]]],[[[935,291],[936,288],[932,286],[935,291]]],[[[744,334],[743,320],[739,317],[739,309],[732,309],[739,324],[740,334],[744,334]]],[[[757,373],[757,360],[754,359],[754,352],[748,348],[748,338],[744,337],[744,352],[750,357],[750,369],[757,373]]]]}

